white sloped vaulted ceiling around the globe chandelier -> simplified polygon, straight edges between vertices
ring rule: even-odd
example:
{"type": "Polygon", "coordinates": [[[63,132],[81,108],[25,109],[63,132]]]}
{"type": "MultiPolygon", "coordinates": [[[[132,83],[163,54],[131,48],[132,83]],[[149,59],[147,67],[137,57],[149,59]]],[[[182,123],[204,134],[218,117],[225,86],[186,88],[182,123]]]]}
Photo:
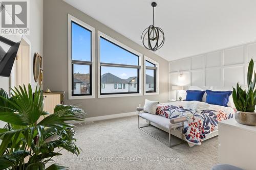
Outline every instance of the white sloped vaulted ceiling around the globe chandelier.
{"type": "MultiPolygon", "coordinates": [[[[63,0],[142,45],[152,24],[150,0],[63,0]]],[[[155,26],[165,43],[155,52],[168,61],[256,40],[254,0],[157,0],[155,26]]]]}

